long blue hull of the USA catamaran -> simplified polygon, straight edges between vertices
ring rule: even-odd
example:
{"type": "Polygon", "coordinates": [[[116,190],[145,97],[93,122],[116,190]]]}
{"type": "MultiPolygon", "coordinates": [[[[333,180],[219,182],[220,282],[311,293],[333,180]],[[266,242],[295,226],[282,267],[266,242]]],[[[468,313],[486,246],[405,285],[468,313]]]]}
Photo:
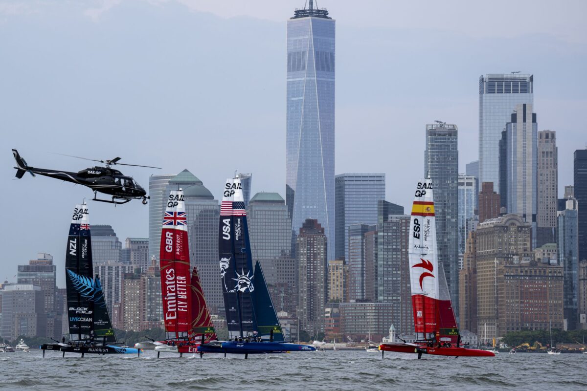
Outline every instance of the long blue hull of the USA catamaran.
{"type": "Polygon", "coordinates": [[[225,341],[217,344],[204,344],[198,346],[198,353],[269,354],[309,352],[315,350],[316,348],[309,345],[282,344],[281,342],[225,341]]]}

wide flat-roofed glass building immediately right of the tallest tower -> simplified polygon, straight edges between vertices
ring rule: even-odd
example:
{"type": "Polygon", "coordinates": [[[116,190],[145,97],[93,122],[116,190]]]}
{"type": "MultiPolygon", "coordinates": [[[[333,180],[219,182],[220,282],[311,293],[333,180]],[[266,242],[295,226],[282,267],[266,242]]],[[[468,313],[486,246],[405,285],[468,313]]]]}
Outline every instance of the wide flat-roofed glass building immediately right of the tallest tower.
{"type": "Polygon", "coordinates": [[[377,201],[385,199],[385,174],[335,176],[336,259],[349,257],[349,226],[377,223],[377,201]]]}

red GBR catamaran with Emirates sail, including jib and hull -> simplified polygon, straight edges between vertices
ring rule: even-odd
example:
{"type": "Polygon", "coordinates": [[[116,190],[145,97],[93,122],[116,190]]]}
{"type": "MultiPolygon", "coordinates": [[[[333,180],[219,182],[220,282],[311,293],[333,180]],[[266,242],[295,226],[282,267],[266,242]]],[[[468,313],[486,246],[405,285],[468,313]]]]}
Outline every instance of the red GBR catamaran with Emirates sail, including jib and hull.
{"type": "Polygon", "coordinates": [[[188,240],[184,194],[181,189],[172,190],[163,217],[159,258],[166,341],[152,342],[157,357],[161,352],[196,353],[202,342],[217,339],[197,269],[190,274],[188,240]]]}

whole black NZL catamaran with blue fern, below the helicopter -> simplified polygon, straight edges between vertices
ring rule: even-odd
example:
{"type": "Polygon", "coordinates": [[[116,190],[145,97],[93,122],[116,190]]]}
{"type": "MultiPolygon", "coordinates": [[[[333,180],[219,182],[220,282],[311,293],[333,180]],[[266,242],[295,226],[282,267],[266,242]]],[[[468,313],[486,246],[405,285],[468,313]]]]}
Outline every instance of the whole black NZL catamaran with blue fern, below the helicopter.
{"type": "Polygon", "coordinates": [[[69,342],[41,345],[46,350],[66,352],[140,355],[140,349],[116,346],[116,335],[106,307],[100,277],[93,276],[92,239],[87,205],[76,205],[65,259],[65,280],[68,300],[69,342]]]}

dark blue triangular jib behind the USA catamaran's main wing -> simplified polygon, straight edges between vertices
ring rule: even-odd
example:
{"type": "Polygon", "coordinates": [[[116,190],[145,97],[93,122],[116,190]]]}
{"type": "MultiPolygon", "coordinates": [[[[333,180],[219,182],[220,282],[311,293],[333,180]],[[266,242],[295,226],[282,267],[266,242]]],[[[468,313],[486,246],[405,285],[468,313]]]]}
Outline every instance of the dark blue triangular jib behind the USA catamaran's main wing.
{"type": "Polygon", "coordinates": [[[252,297],[259,336],[263,340],[268,340],[271,338],[271,332],[273,332],[273,341],[284,342],[284,332],[279,324],[277,312],[275,312],[275,307],[273,306],[273,301],[271,300],[271,295],[269,294],[259,261],[255,264],[254,280],[255,290],[252,293],[252,297]]]}

